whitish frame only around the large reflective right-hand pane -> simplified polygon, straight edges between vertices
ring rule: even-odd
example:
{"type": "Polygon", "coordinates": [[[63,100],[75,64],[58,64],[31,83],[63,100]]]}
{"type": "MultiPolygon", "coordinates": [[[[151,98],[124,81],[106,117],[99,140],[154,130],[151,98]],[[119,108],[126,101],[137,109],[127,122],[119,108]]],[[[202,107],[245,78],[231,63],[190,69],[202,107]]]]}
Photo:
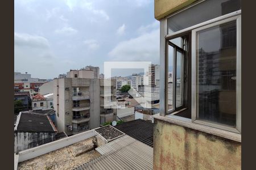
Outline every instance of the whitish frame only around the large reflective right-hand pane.
{"type": "Polygon", "coordinates": [[[241,133],[241,15],[236,15],[230,18],[226,18],[223,20],[220,20],[218,22],[214,22],[212,24],[207,24],[202,27],[196,28],[192,30],[192,79],[191,79],[191,86],[192,86],[192,122],[195,122],[197,124],[212,126],[213,128],[233,131],[235,133],[241,133]],[[196,56],[196,33],[198,31],[211,28],[220,24],[232,22],[236,20],[237,22],[237,84],[236,84],[236,104],[237,104],[237,113],[236,113],[236,128],[232,128],[226,125],[217,124],[217,122],[207,122],[203,120],[199,120],[198,117],[198,104],[197,104],[197,92],[198,92],[198,86],[197,86],[197,56],[196,56]]]}

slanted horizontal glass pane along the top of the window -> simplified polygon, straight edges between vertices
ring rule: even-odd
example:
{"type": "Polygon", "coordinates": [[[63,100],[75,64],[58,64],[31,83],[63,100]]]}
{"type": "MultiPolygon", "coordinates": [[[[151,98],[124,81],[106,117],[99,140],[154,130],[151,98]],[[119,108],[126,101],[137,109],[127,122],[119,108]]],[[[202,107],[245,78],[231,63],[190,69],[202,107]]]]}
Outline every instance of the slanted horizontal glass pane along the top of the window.
{"type": "Polygon", "coordinates": [[[241,9],[241,0],[207,0],[167,19],[168,33],[241,9]]]}

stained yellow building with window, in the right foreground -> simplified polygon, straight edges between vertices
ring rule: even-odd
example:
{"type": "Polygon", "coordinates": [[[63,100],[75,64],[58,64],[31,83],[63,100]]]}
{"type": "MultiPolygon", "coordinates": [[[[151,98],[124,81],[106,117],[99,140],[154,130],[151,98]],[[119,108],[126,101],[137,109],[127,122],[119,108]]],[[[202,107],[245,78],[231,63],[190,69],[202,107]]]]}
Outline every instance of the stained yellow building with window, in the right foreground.
{"type": "Polygon", "coordinates": [[[155,18],[154,169],[241,169],[241,1],[160,0],[155,18]]]}

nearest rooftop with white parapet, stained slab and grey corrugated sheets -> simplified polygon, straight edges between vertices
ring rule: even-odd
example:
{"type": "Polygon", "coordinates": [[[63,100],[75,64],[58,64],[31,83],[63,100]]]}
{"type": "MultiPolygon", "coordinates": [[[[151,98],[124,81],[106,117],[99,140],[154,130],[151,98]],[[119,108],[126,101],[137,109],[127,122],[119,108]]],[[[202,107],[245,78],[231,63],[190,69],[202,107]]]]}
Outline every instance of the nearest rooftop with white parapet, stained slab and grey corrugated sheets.
{"type": "Polygon", "coordinates": [[[14,158],[15,169],[152,169],[153,148],[108,125],[21,151],[14,158]],[[112,138],[102,140],[99,132],[104,137],[112,133],[112,138]]]}

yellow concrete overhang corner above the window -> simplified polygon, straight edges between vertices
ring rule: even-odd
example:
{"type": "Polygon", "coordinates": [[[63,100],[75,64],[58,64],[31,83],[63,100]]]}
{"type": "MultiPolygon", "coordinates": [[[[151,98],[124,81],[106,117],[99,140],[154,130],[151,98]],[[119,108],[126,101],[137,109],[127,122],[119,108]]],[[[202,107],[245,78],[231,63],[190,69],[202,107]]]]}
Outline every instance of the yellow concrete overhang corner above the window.
{"type": "Polygon", "coordinates": [[[155,19],[160,20],[197,0],[155,0],[155,19]]]}

